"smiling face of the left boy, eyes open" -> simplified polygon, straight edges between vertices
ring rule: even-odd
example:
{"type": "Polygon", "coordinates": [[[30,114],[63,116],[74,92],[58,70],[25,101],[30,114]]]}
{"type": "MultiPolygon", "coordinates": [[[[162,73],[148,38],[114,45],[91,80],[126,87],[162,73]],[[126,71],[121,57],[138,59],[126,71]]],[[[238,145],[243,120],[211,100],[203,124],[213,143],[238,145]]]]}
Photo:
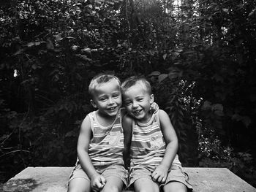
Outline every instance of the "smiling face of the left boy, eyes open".
{"type": "Polygon", "coordinates": [[[121,107],[121,89],[116,80],[99,84],[94,91],[91,104],[99,109],[102,115],[115,116],[121,107]]]}

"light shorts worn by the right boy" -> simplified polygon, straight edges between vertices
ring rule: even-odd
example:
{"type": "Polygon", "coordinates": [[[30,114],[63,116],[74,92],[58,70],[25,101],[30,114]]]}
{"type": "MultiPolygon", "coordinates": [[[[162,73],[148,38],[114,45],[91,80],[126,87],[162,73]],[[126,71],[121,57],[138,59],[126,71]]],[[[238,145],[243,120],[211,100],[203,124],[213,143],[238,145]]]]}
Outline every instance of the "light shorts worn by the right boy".
{"type": "MultiPolygon", "coordinates": [[[[135,180],[140,178],[148,178],[152,180],[151,171],[146,168],[146,166],[138,166],[132,169],[129,174],[129,185],[135,183],[135,180]]],[[[187,186],[187,188],[192,189],[192,185],[189,184],[189,176],[186,172],[183,171],[181,166],[172,165],[167,173],[167,179],[165,183],[160,184],[160,187],[170,183],[172,181],[178,181],[187,186]]]]}

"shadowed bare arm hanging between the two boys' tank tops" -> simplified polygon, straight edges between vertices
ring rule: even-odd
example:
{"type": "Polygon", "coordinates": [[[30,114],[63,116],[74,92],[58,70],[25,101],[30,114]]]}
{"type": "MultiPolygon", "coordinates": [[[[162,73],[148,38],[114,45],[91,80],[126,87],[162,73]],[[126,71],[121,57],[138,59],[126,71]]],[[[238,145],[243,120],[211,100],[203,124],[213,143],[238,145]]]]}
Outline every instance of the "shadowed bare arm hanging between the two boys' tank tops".
{"type": "Polygon", "coordinates": [[[129,151],[132,140],[132,119],[128,115],[122,118],[122,128],[124,129],[124,164],[129,167],[129,151]]]}

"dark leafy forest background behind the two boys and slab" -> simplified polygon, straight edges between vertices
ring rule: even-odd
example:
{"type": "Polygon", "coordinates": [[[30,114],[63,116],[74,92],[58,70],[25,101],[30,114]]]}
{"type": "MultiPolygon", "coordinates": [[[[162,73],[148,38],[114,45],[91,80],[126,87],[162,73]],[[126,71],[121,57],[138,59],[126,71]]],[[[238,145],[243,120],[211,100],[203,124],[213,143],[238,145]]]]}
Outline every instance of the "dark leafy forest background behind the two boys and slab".
{"type": "Polygon", "coordinates": [[[1,0],[0,183],[74,166],[99,72],[144,75],[183,166],[256,186],[255,0],[1,0]]]}

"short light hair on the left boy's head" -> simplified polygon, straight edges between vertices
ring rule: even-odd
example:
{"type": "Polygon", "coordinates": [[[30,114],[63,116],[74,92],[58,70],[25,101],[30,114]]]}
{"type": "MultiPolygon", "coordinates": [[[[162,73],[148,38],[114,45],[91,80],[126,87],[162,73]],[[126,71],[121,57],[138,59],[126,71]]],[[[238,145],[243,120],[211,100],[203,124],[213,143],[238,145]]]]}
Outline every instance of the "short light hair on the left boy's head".
{"type": "Polygon", "coordinates": [[[109,82],[110,80],[116,80],[118,86],[121,88],[121,82],[118,79],[118,77],[116,77],[115,75],[113,75],[113,74],[97,74],[95,77],[92,78],[92,80],[89,84],[89,94],[91,95],[91,97],[94,97],[95,88],[97,88],[97,86],[99,84],[109,82]]]}

